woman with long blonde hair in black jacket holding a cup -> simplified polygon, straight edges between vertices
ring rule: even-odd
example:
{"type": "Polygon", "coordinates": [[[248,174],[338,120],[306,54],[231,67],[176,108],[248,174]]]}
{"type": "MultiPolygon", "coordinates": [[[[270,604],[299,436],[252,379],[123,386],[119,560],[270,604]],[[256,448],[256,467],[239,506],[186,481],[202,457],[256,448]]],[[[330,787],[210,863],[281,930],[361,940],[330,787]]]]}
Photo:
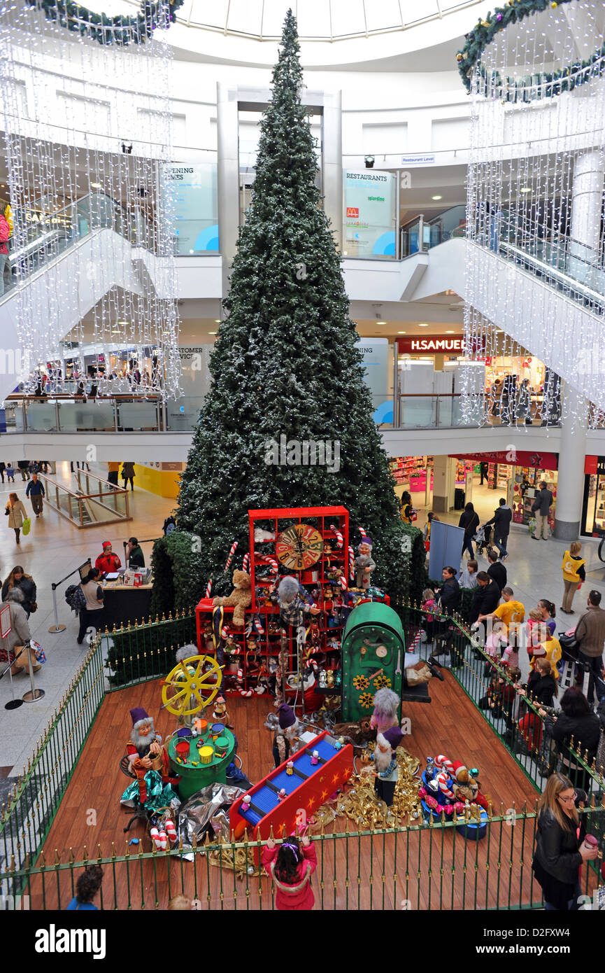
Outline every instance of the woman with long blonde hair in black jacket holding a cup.
{"type": "Polygon", "coordinates": [[[582,895],[580,867],[598,854],[598,847],[584,841],[586,828],[576,805],[584,791],[574,790],[569,777],[549,777],[538,803],[538,829],[532,871],[544,893],[546,910],[578,909],[582,895]]]}

